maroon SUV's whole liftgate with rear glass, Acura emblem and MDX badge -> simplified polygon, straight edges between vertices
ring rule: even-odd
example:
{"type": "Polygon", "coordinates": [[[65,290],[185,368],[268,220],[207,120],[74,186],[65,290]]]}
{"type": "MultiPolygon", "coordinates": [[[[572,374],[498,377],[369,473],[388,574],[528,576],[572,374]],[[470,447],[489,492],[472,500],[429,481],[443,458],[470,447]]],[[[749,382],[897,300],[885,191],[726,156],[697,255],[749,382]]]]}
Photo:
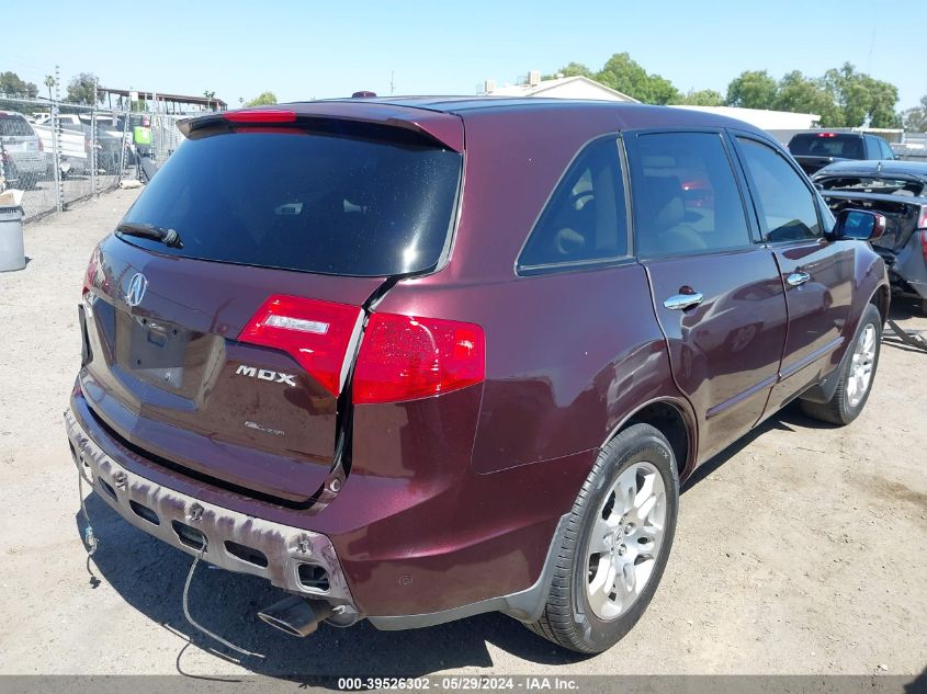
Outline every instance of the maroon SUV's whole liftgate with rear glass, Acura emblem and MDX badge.
{"type": "Polygon", "coordinates": [[[91,263],[93,416],[157,464],[305,502],[337,460],[368,300],[449,252],[461,160],[351,122],[192,133],[91,263]]]}

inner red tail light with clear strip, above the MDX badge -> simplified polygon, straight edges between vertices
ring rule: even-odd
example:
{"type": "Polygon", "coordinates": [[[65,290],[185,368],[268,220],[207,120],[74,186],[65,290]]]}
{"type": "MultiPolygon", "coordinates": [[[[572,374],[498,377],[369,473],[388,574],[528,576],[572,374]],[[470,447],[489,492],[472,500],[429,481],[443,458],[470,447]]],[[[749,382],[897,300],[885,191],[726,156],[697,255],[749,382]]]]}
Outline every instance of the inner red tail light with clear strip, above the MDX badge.
{"type": "Polygon", "coordinates": [[[238,340],[286,352],[337,396],[344,354],[360,315],[357,306],[274,295],[258,309],[238,340]]]}

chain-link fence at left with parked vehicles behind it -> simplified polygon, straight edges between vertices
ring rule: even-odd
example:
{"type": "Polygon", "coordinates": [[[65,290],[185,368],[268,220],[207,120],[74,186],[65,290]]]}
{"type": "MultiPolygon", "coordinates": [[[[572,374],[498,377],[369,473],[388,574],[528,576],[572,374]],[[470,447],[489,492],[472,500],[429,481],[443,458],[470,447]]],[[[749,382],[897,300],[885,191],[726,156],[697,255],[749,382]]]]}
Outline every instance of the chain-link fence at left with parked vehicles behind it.
{"type": "Polygon", "coordinates": [[[23,193],[32,219],[148,178],[180,146],[179,116],[0,94],[0,192],[23,193]]]}

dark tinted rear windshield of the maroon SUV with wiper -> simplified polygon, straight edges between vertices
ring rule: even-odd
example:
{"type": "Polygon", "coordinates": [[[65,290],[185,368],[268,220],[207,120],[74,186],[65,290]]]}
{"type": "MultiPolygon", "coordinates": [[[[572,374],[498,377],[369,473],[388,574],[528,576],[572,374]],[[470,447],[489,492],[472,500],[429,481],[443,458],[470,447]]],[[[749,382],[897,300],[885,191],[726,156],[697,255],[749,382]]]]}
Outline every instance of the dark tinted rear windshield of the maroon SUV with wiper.
{"type": "Polygon", "coordinates": [[[197,136],[124,219],[174,229],[183,247],[123,238],[171,255],[323,274],[431,269],[448,243],[462,157],[400,135],[197,136]]]}

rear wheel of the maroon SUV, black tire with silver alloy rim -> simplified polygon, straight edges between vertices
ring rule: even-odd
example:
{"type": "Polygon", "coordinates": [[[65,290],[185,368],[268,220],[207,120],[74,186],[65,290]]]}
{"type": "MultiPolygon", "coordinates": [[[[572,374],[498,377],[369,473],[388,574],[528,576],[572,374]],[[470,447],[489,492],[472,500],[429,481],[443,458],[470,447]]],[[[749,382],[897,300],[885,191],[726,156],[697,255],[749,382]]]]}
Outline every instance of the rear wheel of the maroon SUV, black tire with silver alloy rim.
{"type": "MultiPolygon", "coordinates": [[[[632,497],[633,493],[628,494],[629,499],[632,497]]],[[[624,509],[628,505],[634,507],[624,504],[624,509]]],[[[538,622],[527,624],[528,628],[580,653],[599,653],[614,646],[637,623],[656,592],[672,547],[678,509],[679,473],[666,437],[649,424],[633,424],[619,433],[599,453],[579,490],[556,554],[544,612],[538,622]],[[629,479],[634,479],[635,498],[644,497],[643,492],[649,489],[647,499],[655,500],[636,527],[631,521],[640,520],[632,516],[638,509],[631,508],[619,515],[620,497],[613,494],[619,482],[628,489],[629,479]],[[655,538],[656,525],[652,521],[660,515],[663,532],[655,538]],[[630,533],[629,525],[633,527],[630,533]],[[608,528],[613,528],[611,536],[608,528]],[[600,533],[602,542],[597,538],[600,533]],[[647,537],[649,541],[645,542],[647,537]],[[602,551],[590,556],[597,549],[602,551]],[[612,574],[618,566],[628,572],[612,574]],[[633,577],[638,584],[623,590],[618,602],[612,602],[608,593],[619,595],[621,576],[626,577],[624,581],[633,577]],[[608,585],[608,591],[593,591],[596,583],[608,585]],[[590,593],[598,600],[592,602],[590,593]]]]}

